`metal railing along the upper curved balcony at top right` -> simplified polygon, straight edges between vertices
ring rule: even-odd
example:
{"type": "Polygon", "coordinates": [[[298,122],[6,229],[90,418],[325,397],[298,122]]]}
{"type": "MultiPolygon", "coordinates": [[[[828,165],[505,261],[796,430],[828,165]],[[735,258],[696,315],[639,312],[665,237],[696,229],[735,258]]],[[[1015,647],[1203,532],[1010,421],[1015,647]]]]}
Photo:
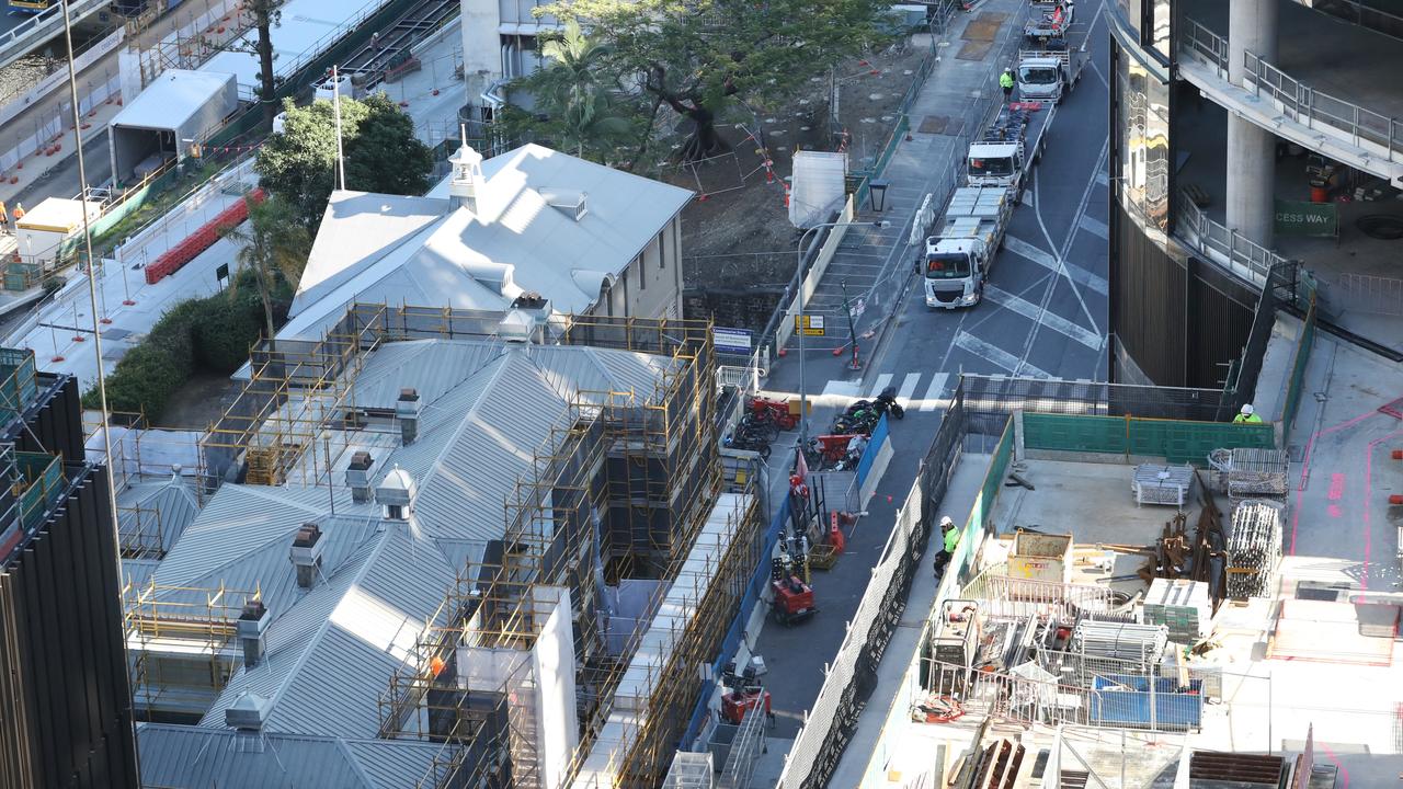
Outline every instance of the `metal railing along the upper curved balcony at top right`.
{"type": "MultiPolygon", "coordinates": [[[[1194,20],[1184,22],[1180,51],[1228,79],[1228,39],[1194,20]]],[[[1266,97],[1296,124],[1347,139],[1388,161],[1403,161],[1403,121],[1322,93],[1250,51],[1243,52],[1243,69],[1242,87],[1266,97]]]]}

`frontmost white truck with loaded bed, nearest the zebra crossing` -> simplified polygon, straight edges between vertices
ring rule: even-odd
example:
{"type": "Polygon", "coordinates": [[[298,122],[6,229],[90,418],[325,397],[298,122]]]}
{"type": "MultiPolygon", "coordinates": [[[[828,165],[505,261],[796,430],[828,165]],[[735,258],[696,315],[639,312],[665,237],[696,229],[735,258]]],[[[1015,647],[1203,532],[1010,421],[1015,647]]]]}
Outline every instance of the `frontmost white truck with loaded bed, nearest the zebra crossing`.
{"type": "Polygon", "coordinates": [[[923,279],[927,307],[971,307],[1013,215],[1007,187],[962,187],[950,197],[936,234],[926,237],[923,279]]]}

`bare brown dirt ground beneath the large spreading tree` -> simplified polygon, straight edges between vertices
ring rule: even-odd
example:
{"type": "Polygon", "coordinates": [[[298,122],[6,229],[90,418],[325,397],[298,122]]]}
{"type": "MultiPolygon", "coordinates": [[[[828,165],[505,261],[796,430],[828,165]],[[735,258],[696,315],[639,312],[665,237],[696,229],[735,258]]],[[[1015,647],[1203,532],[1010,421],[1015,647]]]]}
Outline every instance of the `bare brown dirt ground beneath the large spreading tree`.
{"type": "MultiPolygon", "coordinates": [[[[819,77],[786,111],[762,115],[759,135],[755,121],[725,129],[734,154],[720,156],[696,173],[672,171],[668,181],[702,192],[683,212],[686,288],[693,295],[781,291],[793,277],[800,236],[788,222],[779,183],[790,177],[794,150],[836,150],[846,142],[849,168],[864,167],[887,142],[897,107],[929,52],[929,38],[918,35],[840,66],[836,124],[829,125],[829,80],[819,77]],[[758,145],[756,136],[767,147],[758,145]]],[[[704,316],[689,312],[687,317],[704,316]]]]}

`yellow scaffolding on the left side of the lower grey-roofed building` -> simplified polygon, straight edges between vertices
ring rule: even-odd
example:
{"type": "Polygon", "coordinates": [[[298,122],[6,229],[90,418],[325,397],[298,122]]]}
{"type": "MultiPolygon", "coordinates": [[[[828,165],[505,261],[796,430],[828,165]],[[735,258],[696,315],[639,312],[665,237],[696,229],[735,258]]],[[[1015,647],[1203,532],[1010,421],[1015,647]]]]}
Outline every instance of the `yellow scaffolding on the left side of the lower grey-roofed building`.
{"type": "Polygon", "coordinates": [[[122,588],[122,626],[137,716],[203,713],[229,682],[243,653],[231,644],[244,605],[260,590],[171,587],[147,581],[122,588]]]}

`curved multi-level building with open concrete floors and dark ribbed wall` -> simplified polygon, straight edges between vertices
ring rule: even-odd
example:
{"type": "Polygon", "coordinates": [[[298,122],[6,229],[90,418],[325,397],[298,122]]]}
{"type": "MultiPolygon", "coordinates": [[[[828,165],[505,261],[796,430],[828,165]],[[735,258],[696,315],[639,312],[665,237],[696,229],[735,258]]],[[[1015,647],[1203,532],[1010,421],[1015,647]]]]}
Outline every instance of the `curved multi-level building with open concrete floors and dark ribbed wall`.
{"type": "Polygon", "coordinates": [[[1399,277],[1350,246],[1365,240],[1352,220],[1403,185],[1403,91],[1376,79],[1403,41],[1338,6],[1354,10],[1107,6],[1113,380],[1222,386],[1268,277],[1319,282],[1322,320],[1341,323],[1361,277],[1399,277]]]}

